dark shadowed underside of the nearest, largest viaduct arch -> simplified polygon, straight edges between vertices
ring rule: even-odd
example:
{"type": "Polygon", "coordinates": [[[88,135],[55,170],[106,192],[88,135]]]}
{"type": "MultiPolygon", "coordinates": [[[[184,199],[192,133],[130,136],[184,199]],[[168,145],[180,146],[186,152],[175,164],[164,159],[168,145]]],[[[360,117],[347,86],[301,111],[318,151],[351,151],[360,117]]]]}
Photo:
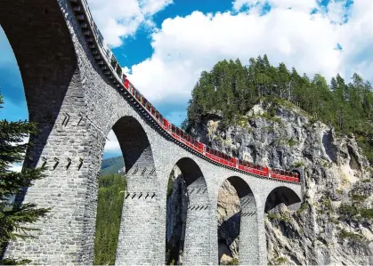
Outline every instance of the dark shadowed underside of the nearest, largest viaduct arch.
{"type": "Polygon", "coordinates": [[[32,161],[25,162],[35,166],[57,117],[68,112],[63,104],[68,89],[76,89],[75,96],[81,93],[77,56],[58,1],[1,1],[0,25],[20,68],[28,120],[42,132],[31,137],[32,161]]]}

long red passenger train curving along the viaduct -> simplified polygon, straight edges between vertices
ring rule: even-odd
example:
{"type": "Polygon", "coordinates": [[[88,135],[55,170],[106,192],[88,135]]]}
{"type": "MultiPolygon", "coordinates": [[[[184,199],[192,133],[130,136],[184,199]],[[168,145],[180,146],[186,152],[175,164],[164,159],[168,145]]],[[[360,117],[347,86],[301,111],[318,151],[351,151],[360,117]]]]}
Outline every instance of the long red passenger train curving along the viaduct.
{"type": "Polygon", "coordinates": [[[155,109],[150,104],[150,102],[147,101],[145,97],[143,97],[142,94],[134,88],[134,85],[132,85],[131,82],[126,78],[126,75],[123,75],[122,82],[128,93],[130,93],[134,100],[137,101],[138,104],[142,105],[142,107],[148,112],[151,117],[154,118],[155,121],[157,121],[158,125],[162,127],[166,131],[166,133],[169,133],[175,140],[182,142],[185,146],[193,149],[202,156],[207,157],[220,165],[236,168],[243,172],[252,173],[267,178],[273,178],[280,181],[299,183],[298,173],[271,169],[262,165],[254,165],[252,163],[239,160],[238,158],[230,157],[221,151],[211,149],[205,144],[194,140],[189,134],[183,132],[177,126],[169,123],[165,117],[162,117],[158,110],[155,109]]]}

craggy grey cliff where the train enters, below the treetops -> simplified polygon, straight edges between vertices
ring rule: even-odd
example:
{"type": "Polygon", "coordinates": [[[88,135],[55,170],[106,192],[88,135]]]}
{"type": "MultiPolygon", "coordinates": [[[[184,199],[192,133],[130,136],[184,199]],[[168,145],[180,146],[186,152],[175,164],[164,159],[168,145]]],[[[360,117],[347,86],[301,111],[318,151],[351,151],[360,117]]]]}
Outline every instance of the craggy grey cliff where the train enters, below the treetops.
{"type": "MultiPolygon", "coordinates": [[[[304,169],[304,204],[296,211],[277,206],[265,219],[269,263],[373,264],[373,169],[353,135],[338,135],[287,101],[262,101],[224,129],[220,120],[207,117],[191,133],[233,157],[304,169]]],[[[239,200],[232,189],[223,184],[217,214],[225,261],[238,255],[239,200]],[[233,215],[237,222],[226,227],[233,215]]]]}

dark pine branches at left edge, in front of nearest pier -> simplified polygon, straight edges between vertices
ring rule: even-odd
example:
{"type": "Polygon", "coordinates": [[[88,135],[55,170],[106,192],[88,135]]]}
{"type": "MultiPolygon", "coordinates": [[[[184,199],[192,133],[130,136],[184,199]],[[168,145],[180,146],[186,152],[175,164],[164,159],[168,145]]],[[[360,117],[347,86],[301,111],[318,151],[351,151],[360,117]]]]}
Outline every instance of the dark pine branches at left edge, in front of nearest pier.
{"type": "MultiPolygon", "coordinates": [[[[3,108],[0,94],[0,109],[3,108]]],[[[8,122],[0,120],[0,249],[4,254],[6,243],[10,239],[30,238],[27,224],[36,222],[45,216],[49,209],[36,208],[35,204],[10,203],[10,198],[20,195],[22,189],[31,186],[31,181],[44,177],[45,168],[23,168],[20,173],[12,172],[10,165],[20,163],[28,148],[28,143],[22,143],[30,134],[36,134],[36,125],[27,121],[8,122]]],[[[21,262],[29,262],[23,260],[21,262]]],[[[0,264],[13,264],[14,260],[3,260],[0,264]]]]}

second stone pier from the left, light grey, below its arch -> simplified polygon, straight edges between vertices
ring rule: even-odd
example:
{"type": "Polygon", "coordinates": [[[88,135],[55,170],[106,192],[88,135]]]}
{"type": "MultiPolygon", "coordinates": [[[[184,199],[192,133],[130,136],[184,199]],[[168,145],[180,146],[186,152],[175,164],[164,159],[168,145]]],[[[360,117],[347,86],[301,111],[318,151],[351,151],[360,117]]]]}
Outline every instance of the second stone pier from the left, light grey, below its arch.
{"type": "Polygon", "coordinates": [[[165,264],[166,192],[158,188],[150,185],[143,191],[127,190],[116,265],[165,264]]]}

